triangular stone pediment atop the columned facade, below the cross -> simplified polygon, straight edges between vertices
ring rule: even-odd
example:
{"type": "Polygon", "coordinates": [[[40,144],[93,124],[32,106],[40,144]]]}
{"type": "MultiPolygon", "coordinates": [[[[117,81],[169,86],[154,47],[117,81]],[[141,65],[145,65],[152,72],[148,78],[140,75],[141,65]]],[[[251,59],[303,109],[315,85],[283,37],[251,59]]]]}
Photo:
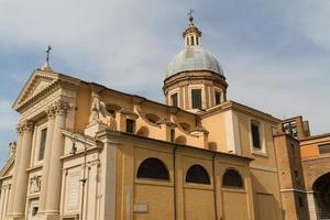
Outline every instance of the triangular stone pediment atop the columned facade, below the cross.
{"type": "Polygon", "coordinates": [[[30,79],[21,90],[13,108],[22,106],[28,100],[44,91],[58,79],[58,75],[51,72],[34,70],[30,79]]]}

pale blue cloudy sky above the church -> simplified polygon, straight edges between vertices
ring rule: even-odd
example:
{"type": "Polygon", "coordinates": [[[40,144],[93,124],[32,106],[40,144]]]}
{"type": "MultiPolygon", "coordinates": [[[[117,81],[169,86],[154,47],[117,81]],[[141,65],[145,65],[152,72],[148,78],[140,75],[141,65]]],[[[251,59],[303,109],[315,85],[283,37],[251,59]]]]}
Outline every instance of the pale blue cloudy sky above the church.
{"type": "Polygon", "coordinates": [[[329,0],[1,0],[0,164],[16,139],[11,106],[47,45],[57,73],[164,102],[189,9],[230,100],[330,132],[329,0]]]}

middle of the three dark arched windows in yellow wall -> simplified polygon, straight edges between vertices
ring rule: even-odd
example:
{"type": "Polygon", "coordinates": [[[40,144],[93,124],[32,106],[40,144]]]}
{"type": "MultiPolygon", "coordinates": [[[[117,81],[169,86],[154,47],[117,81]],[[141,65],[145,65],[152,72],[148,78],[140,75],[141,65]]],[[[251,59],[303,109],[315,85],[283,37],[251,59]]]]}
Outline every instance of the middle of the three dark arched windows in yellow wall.
{"type": "Polygon", "coordinates": [[[211,184],[208,172],[200,165],[190,166],[186,175],[186,182],[194,184],[211,184]]]}

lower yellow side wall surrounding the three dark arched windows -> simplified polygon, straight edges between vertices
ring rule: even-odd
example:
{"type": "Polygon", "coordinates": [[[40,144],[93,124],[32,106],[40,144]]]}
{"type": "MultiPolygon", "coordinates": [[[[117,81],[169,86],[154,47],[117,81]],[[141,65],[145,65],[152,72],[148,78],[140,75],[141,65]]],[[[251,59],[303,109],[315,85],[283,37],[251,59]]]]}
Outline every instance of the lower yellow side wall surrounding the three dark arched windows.
{"type": "Polygon", "coordinates": [[[248,161],[231,155],[217,155],[215,158],[216,173],[213,177],[213,153],[186,148],[176,150],[176,201],[174,201],[174,145],[156,141],[152,142],[140,142],[136,139],[131,140],[131,138],[128,138],[119,145],[117,182],[118,219],[125,219],[129,210],[132,211],[134,219],[174,219],[175,204],[177,219],[215,219],[216,199],[218,219],[223,217],[234,219],[235,215],[244,215],[248,219],[254,219],[254,212],[249,210],[254,208],[248,161]],[[163,161],[169,172],[169,182],[136,178],[140,164],[148,157],[156,157],[163,161]],[[195,164],[201,165],[208,172],[211,182],[210,185],[185,183],[188,168],[195,164]],[[222,176],[229,167],[234,167],[240,172],[244,180],[244,189],[222,190],[222,176]],[[213,182],[213,178],[216,182],[213,182]],[[130,188],[133,194],[132,201],[128,199],[128,189],[130,188]],[[237,200],[237,202],[233,204],[233,200],[237,200]],[[130,209],[128,207],[128,204],[131,207],[147,205],[147,212],[134,211],[133,208],[130,209]],[[234,209],[241,212],[229,213],[234,209]]]}

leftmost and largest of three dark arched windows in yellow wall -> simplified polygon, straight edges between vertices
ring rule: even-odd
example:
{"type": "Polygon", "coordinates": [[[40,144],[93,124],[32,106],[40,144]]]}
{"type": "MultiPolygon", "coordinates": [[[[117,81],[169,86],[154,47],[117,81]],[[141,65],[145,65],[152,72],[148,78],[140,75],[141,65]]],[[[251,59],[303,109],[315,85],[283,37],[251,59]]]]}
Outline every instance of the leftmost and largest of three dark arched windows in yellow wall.
{"type": "Polygon", "coordinates": [[[138,178],[151,178],[169,180],[166,165],[158,158],[147,158],[143,161],[138,169],[138,178]]]}

